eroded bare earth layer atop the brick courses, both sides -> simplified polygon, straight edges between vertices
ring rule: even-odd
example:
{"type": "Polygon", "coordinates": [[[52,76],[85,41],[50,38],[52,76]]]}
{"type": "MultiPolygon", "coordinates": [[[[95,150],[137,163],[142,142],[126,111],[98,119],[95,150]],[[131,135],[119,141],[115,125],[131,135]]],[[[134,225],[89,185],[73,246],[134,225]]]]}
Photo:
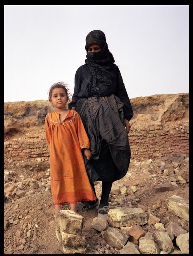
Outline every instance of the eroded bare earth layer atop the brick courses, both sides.
{"type": "MultiPolygon", "coordinates": [[[[189,93],[158,94],[131,99],[134,110],[132,122],[174,122],[189,118],[189,93]]],[[[6,102],[4,104],[4,132],[42,126],[47,113],[53,111],[46,100],[6,102]]]]}

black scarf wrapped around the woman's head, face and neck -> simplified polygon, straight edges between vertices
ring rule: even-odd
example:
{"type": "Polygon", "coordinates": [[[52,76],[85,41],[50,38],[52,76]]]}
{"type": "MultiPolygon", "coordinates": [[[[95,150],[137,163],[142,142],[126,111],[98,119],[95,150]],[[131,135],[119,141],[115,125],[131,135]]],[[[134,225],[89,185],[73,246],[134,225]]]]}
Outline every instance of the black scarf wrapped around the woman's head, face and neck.
{"type": "Polygon", "coordinates": [[[100,84],[110,85],[112,83],[113,73],[112,64],[115,62],[112,53],[108,49],[105,34],[101,30],[93,30],[86,36],[85,49],[87,51],[85,63],[88,69],[100,84]],[[98,43],[101,51],[88,53],[89,45],[98,43]]]}

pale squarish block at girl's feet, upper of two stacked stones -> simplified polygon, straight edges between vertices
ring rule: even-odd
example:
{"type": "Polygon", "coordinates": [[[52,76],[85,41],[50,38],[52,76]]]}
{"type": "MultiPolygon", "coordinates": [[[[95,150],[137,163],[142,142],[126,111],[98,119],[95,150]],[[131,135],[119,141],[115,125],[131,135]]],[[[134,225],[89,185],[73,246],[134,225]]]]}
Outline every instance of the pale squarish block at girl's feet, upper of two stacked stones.
{"type": "Polygon", "coordinates": [[[80,235],[82,234],[83,216],[71,210],[60,210],[56,217],[56,226],[62,232],[80,235]]]}

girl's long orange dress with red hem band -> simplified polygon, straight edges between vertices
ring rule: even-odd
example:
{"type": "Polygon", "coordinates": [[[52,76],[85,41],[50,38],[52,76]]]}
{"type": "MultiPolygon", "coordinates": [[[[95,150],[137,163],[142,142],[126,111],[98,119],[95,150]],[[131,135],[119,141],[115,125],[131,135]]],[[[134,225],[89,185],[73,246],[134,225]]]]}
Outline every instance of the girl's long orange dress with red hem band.
{"type": "Polygon", "coordinates": [[[96,200],[81,149],[90,143],[80,115],[70,110],[63,122],[56,111],[45,118],[50,149],[50,181],[54,205],[96,200]]]}

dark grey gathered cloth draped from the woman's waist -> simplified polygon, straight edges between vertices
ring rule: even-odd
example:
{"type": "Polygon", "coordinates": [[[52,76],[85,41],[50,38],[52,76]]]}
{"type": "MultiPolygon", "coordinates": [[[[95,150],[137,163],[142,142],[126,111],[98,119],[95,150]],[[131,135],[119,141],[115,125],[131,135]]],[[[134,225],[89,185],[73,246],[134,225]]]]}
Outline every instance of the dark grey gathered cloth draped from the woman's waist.
{"type": "MultiPolygon", "coordinates": [[[[120,99],[110,96],[82,98],[76,104],[76,111],[80,114],[90,141],[93,160],[100,159],[101,147],[106,142],[119,175],[114,179],[121,179],[126,174],[130,163],[130,145],[128,135],[123,125],[123,104],[120,99]]],[[[96,164],[96,163],[95,163],[96,164]]],[[[96,169],[98,172],[98,168],[96,169]]],[[[102,173],[98,173],[100,178],[102,173]]]]}

